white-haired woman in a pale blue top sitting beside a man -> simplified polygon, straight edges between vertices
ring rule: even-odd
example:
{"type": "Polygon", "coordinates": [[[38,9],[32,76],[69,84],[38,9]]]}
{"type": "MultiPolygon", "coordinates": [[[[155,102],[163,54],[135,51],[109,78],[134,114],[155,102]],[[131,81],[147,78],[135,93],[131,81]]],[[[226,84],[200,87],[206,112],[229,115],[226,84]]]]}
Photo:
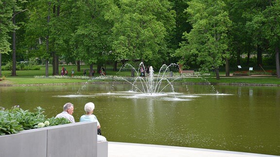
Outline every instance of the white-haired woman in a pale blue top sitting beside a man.
{"type": "MultiPolygon", "coordinates": [[[[100,128],[100,123],[98,122],[96,116],[93,113],[94,110],[94,104],[92,102],[89,102],[85,105],[85,111],[86,114],[82,115],[80,118],[80,122],[97,122],[97,128],[100,128]]],[[[97,135],[97,141],[106,141],[106,138],[101,135],[97,135]]]]}

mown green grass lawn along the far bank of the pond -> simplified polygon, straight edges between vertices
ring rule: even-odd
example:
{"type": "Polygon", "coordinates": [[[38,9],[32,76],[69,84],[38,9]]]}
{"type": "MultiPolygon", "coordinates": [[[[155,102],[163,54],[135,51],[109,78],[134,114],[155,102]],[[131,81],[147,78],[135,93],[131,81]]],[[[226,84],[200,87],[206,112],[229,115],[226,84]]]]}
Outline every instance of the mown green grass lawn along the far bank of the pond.
{"type": "MultiPolygon", "coordinates": [[[[81,65],[81,72],[77,72],[77,67],[75,65],[64,65],[69,71],[69,75],[71,75],[71,69],[74,69],[75,76],[83,76],[83,69],[87,69],[88,75],[88,65],[81,65]]],[[[61,68],[60,66],[59,68],[61,68]]],[[[97,72],[96,67],[93,69],[97,72]]],[[[123,76],[130,77],[130,71],[124,72],[116,72],[112,70],[112,67],[106,67],[106,75],[107,76],[123,76]]],[[[1,71],[2,76],[4,76],[4,80],[0,81],[0,85],[2,84],[50,84],[50,83],[84,83],[87,82],[87,79],[78,79],[78,78],[34,78],[34,76],[44,76],[45,75],[45,67],[41,66],[40,70],[18,70],[17,77],[11,77],[11,71],[1,71]]],[[[49,76],[52,76],[53,68],[49,67],[49,76]]],[[[174,73],[174,75],[178,75],[174,73]]],[[[223,72],[221,72],[223,75],[223,72]]],[[[99,76],[98,73],[95,73],[94,76],[99,76]]],[[[107,80],[108,81],[108,80],[107,80]]],[[[221,76],[220,80],[216,80],[216,78],[212,75],[205,79],[201,78],[183,78],[182,80],[178,80],[179,82],[193,82],[193,83],[246,83],[246,84],[278,84],[280,85],[280,79],[277,79],[276,76],[267,76],[267,77],[223,77],[221,76]]]]}

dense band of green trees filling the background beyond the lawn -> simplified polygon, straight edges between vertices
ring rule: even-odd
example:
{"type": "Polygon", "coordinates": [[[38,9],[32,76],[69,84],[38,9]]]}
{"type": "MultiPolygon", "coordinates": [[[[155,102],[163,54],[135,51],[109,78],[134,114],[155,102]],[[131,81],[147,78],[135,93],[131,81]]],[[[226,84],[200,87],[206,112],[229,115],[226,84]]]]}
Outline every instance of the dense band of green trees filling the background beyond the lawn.
{"type": "MultiPolygon", "coordinates": [[[[215,71],[273,66],[280,78],[280,0],[0,0],[1,66],[141,61],[215,71]],[[245,57],[242,57],[245,56],[245,57]]],[[[90,70],[92,71],[92,70],[90,70]]]]}

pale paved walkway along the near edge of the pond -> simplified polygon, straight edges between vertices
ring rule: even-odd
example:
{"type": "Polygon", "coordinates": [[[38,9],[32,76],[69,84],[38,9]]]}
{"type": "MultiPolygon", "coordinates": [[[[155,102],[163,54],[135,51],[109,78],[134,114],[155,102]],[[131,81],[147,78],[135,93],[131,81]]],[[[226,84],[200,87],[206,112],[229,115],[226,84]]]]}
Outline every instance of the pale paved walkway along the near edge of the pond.
{"type": "Polygon", "coordinates": [[[200,148],[108,142],[108,157],[279,157],[200,148]]]}

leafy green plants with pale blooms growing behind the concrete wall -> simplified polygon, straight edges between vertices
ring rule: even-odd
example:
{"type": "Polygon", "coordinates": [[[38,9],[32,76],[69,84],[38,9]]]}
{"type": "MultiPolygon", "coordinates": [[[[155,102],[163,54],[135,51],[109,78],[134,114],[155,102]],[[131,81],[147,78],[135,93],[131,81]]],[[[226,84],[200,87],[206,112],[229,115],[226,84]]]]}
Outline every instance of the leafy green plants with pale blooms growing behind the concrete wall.
{"type": "Polygon", "coordinates": [[[44,109],[41,107],[37,107],[35,112],[22,110],[19,106],[15,106],[11,110],[0,109],[0,135],[15,134],[21,130],[38,128],[40,123],[46,124],[44,126],[70,123],[65,118],[46,118],[43,114],[44,109]]]}

